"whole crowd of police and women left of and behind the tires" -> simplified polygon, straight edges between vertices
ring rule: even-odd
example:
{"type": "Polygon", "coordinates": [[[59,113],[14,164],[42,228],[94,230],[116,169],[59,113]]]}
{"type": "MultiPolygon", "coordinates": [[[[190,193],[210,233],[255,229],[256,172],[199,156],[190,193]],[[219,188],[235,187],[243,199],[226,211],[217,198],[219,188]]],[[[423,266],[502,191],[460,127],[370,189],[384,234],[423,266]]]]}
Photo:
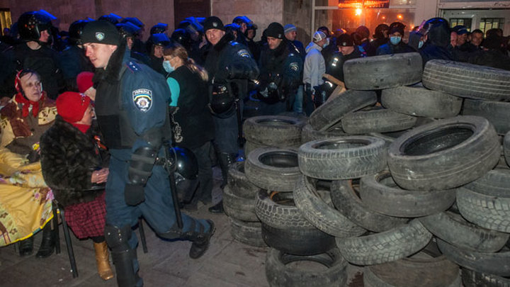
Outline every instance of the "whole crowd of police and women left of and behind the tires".
{"type": "MultiPolygon", "coordinates": [[[[419,52],[424,64],[443,59],[510,70],[501,29],[470,33],[443,18],[412,30],[380,24],[372,38],[365,26],[334,33],[323,26],[306,46],[290,23],[271,23],[255,41],[258,27],[246,16],[227,25],[191,17],[173,33],[167,29],[153,26],[144,43],[139,19],[110,14],[59,32],[51,18],[31,11],[4,30],[0,184],[11,189],[0,199],[9,214],[0,218],[1,245],[19,241],[26,256],[42,230],[37,256],[49,257],[55,202],[74,234],[94,242],[101,278],[114,276],[109,247],[118,285],[142,286],[132,233],[141,216],[159,237],[193,242],[191,258],[208,249],[214,223],[180,214],[178,206],[212,203],[216,162],[221,187],[227,184],[247,101],[259,104],[260,116],[310,116],[343,84],[344,62],[359,57],[419,52]],[[179,190],[179,203],[166,169],[169,142],[198,162],[198,184],[179,190]],[[13,202],[23,196],[20,211],[13,202]]],[[[222,202],[209,210],[222,213],[222,202]]]]}

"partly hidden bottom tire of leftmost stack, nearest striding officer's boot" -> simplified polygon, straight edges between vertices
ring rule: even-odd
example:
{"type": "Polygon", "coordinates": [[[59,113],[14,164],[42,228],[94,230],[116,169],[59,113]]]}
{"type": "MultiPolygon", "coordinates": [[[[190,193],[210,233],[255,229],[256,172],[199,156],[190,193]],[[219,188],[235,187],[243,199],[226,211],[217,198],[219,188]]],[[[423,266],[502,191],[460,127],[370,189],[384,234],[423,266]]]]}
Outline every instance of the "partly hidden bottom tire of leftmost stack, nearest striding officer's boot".
{"type": "Polygon", "coordinates": [[[253,247],[267,247],[262,239],[262,224],[247,223],[245,221],[230,218],[230,235],[237,242],[248,244],[253,247]]]}

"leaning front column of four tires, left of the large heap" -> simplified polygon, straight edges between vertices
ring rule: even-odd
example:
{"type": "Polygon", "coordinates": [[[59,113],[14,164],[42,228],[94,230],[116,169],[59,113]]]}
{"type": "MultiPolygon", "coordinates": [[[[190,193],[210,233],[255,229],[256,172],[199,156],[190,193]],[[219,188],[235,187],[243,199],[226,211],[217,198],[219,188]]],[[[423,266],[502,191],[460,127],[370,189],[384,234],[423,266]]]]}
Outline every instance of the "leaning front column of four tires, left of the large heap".
{"type": "MultiPolygon", "coordinates": [[[[261,188],[255,210],[263,241],[271,247],[266,257],[270,286],[344,286],[347,262],[335,248],[334,236],[314,227],[295,206],[293,190],[302,176],[297,150],[256,148],[244,169],[251,184],[261,188]],[[300,269],[296,261],[317,262],[327,270],[300,269]]],[[[322,189],[318,193],[332,206],[327,186],[322,189]]]]}

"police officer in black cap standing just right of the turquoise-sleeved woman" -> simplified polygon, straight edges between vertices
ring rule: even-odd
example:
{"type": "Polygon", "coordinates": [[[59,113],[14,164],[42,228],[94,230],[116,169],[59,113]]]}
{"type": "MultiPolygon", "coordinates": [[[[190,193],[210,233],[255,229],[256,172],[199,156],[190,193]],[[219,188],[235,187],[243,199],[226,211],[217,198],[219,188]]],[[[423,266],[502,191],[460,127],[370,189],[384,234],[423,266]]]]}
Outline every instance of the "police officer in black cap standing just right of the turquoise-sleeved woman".
{"type": "MultiPolygon", "coordinates": [[[[210,16],[203,23],[205,36],[212,47],[205,59],[205,69],[209,74],[211,110],[214,113],[215,140],[218,160],[222,170],[222,188],[227,184],[230,164],[237,157],[238,117],[235,113],[234,98],[238,101],[238,111],[242,111],[242,100],[247,94],[247,80],[256,79],[259,69],[248,48],[234,41],[234,36],[225,33],[220,18],[210,16]],[[237,89],[233,91],[232,86],[237,89]],[[213,94],[214,91],[214,94],[213,94]]],[[[222,201],[209,208],[212,213],[223,211],[222,201]]]]}

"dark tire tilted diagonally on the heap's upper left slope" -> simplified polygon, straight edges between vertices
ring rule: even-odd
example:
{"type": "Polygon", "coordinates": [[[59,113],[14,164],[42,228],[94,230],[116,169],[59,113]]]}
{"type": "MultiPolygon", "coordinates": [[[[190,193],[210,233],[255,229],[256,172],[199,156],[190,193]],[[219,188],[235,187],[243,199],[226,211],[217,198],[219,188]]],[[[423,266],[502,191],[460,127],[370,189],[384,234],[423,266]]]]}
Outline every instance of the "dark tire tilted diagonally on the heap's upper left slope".
{"type": "Polygon", "coordinates": [[[315,109],[310,115],[310,125],[314,130],[327,130],[344,118],[347,113],[358,111],[376,102],[375,91],[344,91],[340,96],[315,109]]]}

